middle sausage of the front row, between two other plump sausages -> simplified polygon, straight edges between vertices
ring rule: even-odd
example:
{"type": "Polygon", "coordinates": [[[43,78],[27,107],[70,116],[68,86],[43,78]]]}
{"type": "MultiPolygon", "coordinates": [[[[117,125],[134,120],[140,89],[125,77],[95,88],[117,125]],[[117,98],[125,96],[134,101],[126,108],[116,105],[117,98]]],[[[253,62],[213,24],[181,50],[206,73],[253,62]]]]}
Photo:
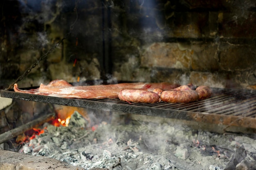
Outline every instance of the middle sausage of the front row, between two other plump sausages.
{"type": "Polygon", "coordinates": [[[198,93],[194,90],[163,91],[160,98],[167,103],[187,103],[198,100],[198,93]]]}

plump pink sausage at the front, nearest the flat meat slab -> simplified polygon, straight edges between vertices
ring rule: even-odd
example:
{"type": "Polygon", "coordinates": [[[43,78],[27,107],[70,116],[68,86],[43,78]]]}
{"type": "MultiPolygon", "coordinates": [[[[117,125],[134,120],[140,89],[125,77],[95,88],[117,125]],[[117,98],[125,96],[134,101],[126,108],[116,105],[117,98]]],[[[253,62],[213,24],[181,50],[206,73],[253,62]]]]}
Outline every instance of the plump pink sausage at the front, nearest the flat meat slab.
{"type": "Polygon", "coordinates": [[[159,102],[159,95],[152,91],[145,91],[139,89],[124,89],[118,94],[122,101],[138,102],[138,103],[157,103],[159,102]]]}

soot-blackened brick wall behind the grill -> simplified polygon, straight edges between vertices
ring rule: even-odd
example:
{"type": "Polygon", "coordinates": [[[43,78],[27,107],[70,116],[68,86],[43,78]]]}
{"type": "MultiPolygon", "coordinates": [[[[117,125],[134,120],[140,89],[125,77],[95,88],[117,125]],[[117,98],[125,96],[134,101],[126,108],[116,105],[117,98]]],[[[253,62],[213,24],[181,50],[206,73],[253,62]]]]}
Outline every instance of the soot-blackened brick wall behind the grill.
{"type": "Polygon", "coordinates": [[[6,9],[0,22],[1,88],[61,40],[73,24],[63,44],[20,82],[21,87],[78,78],[225,88],[256,85],[253,0],[38,3],[40,9],[32,11],[18,1],[1,4],[6,9]]]}

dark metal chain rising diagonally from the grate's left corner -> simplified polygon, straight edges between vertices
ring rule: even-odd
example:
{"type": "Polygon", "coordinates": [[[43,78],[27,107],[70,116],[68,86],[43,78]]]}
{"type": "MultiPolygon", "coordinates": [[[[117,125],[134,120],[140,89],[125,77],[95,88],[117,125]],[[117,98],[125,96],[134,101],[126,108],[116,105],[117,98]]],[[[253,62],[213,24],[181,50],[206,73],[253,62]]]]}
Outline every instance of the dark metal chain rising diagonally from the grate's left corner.
{"type": "Polygon", "coordinates": [[[23,77],[25,77],[33,68],[35,68],[39,62],[41,60],[43,60],[49,53],[52,53],[52,51],[54,51],[54,49],[56,49],[57,46],[59,46],[63,40],[65,40],[67,38],[68,35],[71,34],[72,30],[74,29],[74,25],[77,21],[77,18],[78,18],[78,13],[77,13],[77,4],[79,3],[79,0],[76,1],[76,4],[75,4],[75,7],[74,7],[74,11],[76,12],[76,20],[74,21],[73,24],[70,25],[70,32],[67,33],[64,38],[62,38],[58,43],[56,43],[51,49],[49,49],[49,51],[47,51],[47,53],[45,53],[44,55],[42,55],[32,66],[30,66],[20,77],[18,77],[18,79],[16,79],[15,82],[13,82],[13,84],[10,84],[10,86],[8,88],[5,88],[4,90],[8,91],[10,89],[12,89],[14,87],[14,84],[20,82],[23,77]]]}

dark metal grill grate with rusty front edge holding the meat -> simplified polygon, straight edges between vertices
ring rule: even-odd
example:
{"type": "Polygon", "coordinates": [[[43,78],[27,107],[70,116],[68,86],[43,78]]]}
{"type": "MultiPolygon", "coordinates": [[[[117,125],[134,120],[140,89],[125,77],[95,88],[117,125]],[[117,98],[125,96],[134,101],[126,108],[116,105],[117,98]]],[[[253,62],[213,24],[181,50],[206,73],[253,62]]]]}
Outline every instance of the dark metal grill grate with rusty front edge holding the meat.
{"type": "Polygon", "coordinates": [[[209,99],[191,103],[131,103],[119,99],[66,99],[1,91],[1,97],[113,112],[256,128],[256,91],[213,88],[209,99]]]}

